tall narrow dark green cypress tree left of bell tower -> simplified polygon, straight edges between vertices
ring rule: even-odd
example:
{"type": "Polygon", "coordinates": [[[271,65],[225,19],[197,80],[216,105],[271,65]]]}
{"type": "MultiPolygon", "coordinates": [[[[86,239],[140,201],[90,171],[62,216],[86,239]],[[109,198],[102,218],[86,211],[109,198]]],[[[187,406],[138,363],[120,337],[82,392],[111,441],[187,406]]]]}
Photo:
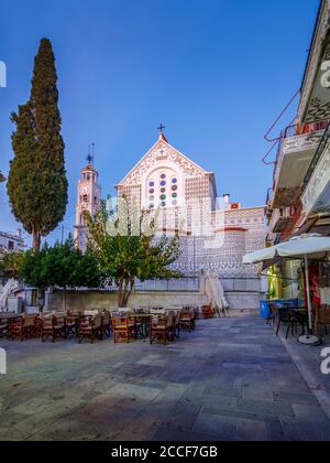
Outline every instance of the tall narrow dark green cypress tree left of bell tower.
{"type": "Polygon", "coordinates": [[[35,57],[30,100],[12,121],[16,130],[8,194],[15,218],[38,249],[41,237],[63,220],[68,200],[55,56],[47,39],[41,41],[35,57]]]}

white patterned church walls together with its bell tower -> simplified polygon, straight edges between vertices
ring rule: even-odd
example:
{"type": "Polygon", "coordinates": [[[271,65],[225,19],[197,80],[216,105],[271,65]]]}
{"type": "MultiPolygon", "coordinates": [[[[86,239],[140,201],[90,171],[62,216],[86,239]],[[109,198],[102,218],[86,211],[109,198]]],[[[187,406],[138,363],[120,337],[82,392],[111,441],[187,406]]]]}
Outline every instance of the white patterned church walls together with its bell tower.
{"type": "MultiPolygon", "coordinates": [[[[174,148],[162,130],[117,191],[140,209],[160,211],[161,233],[179,230],[182,256],[174,267],[185,276],[212,271],[224,280],[260,280],[258,267],[243,266],[242,260],[265,245],[264,206],[244,208],[231,203],[230,195],[219,198],[215,174],[174,148]]],[[[101,186],[89,163],[78,184],[75,237],[82,250],[87,243],[84,211],[94,214],[100,204],[101,186]]]]}

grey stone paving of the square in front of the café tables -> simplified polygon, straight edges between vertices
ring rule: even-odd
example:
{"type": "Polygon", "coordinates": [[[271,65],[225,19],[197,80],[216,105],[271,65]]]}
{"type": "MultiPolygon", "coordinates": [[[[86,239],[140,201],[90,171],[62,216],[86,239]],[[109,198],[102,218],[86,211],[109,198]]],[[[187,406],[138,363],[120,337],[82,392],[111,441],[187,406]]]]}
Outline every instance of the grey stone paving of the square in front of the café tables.
{"type": "Polygon", "coordinates": [[[167,346],[1,340],[0,440],[328,441],[285,343],[301,348],[251,315],[200,321],[167,346]]]}

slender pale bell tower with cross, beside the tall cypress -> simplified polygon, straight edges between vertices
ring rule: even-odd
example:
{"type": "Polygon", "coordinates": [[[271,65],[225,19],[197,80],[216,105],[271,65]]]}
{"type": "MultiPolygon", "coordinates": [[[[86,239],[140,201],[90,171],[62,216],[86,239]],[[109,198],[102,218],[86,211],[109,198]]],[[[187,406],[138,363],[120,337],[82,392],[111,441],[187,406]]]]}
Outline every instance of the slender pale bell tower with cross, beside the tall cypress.
{"type": "Polygon", "coordinates": [[[87,158],[87,165],[81,170],[81,179],[78,182],[78,197],[76,208],[75,241],[84,252],[87,247],[87,220],[86,212],[91,216],[101,207],[101,186],[98,184],[98,172],[94,166],[94,155],[87,158]]]}

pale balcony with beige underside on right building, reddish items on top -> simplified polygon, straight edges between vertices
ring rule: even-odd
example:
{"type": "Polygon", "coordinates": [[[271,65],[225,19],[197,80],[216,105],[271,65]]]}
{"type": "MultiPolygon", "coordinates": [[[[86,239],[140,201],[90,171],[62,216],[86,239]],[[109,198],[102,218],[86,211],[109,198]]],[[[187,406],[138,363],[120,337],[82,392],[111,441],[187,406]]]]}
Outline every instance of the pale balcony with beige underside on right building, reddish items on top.
{"type": "Polygon", "coordinates": [[[273,208],[289,207],[300,200],[308,168],[322,140],[328,121],[290,126],[280,136],[274,170],[273,208]]]}

